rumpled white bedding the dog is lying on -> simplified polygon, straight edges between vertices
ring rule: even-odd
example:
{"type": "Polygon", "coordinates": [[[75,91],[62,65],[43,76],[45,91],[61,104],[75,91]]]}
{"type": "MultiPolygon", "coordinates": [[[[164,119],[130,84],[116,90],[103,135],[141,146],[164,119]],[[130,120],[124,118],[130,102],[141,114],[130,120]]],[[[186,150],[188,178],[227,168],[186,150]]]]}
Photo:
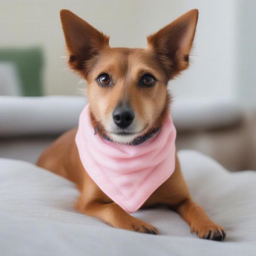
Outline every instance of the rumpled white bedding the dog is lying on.
{"type": "Polygon", "coordinates": [[[195,151],[180,151],[195,200],[225,227],[224,242],[199,239],[175,212],[140,210],[160,235],[109,227],[76,212],[73,183],[30,163],[0,159],[0,255],[256,255],[256,172],[229,173],[195,151]]]}

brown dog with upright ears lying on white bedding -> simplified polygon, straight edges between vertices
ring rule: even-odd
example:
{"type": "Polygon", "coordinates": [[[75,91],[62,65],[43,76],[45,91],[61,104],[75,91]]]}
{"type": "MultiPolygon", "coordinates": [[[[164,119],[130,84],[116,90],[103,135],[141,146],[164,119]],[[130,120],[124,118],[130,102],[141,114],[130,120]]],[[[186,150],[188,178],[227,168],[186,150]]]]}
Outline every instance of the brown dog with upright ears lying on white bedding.
{"type": "MultiPolygon", "coordinates": [[[[111,48],[108,36],[68,10],[61,22],[69,52],[70,67],[87,80],[90,115],[99,134],[118,143],[129,143],[161,127],[169,109],[167,82],[189,66],[198,10],[180,16],[147,37],[145,49],[111,48]],[[143,81],[144,86],[138,86],[143,81]],[[111,89],[108,87],[112,84],[111,89]],[[134,133],[110,132],[112,113],[122,102],[134,110],[134,133]],[[143,129],[144,128],[144,129],[143,129]],[[138,132],[137,132],[138,131],[138,132]]],[[[113,130],[113,129],[112,129],[113,130]]],[[[38,166],[75,182],[81,190],[77,209],[113,227],[157,234],[151,224],[134,218],[105,195],[85,172],[75,143],[77,128],[66,132],[47,148],[38,166]]],[[[181,174],[176,155],[175,172],[143,204],[142,208],[165,204],[177,211],[199,237],[223,241],[223,227],[216,225],[196,204],[181,174]]]]}

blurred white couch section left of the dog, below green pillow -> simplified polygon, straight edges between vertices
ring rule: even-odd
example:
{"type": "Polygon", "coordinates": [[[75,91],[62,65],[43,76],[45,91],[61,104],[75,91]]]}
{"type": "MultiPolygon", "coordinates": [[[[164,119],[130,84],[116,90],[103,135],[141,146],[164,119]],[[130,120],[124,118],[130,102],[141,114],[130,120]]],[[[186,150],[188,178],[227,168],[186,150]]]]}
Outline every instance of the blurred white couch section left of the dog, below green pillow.
{"type": "Polygon", "coordinates": [[[0,96],[0,136],[61,134],[78,124],[84,97],[0,96]]]}

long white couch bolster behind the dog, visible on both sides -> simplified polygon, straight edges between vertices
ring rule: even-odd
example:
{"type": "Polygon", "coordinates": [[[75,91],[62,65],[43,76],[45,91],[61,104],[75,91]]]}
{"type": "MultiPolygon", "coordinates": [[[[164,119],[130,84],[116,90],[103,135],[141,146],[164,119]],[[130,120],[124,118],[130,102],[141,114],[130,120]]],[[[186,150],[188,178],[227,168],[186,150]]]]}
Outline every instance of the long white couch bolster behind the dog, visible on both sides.
{"type": "MultiPolygon", "coordinates": [[[[86,102],[81,96],[0,96],[0,136],[60,134],[78,124],[86,102]]],[[[178,131],[223,128],[243,118],[237,102],[220,98],[175,98],[171,112],[178,131]]]]}

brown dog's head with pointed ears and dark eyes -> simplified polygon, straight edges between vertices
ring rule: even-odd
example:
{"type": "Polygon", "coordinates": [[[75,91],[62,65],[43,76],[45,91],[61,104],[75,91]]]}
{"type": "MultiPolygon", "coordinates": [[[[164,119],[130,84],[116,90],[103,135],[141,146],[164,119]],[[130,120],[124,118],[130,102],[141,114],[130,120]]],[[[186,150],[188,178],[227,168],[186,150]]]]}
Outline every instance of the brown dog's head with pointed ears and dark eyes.
{"type": "Polygon", "coordinates": [[[198,10],[147,37],[147,47],[111,48],[109,37],[68,10],[61,22],[70,67],[87,80],[96,130],[119,143],[160,127],[168,112],[167,83],[189,65],[198,10]]]}

